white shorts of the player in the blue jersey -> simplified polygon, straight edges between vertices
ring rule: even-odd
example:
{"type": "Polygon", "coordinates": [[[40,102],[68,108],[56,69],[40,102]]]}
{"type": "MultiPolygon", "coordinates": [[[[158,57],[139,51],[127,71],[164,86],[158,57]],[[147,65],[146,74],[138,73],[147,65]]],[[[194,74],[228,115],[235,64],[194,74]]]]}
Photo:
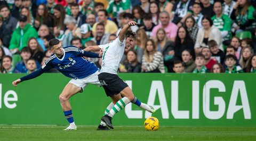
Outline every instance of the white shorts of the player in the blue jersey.
{"type": "Polygon", "coordinates": [[[76,80],[72,79],[68,83],[72,83],[78,87],[81,87],[82,91],[84,91],[84,87],[87,84],[94,84],[94,85],[102,86],[99,82],[98,74],[99,74],[99,70],[97,70],[97,72],[95,72],[94,74],[91,74],[87,77],[84,77],[81,79],[76,79],[76,80]]]}

